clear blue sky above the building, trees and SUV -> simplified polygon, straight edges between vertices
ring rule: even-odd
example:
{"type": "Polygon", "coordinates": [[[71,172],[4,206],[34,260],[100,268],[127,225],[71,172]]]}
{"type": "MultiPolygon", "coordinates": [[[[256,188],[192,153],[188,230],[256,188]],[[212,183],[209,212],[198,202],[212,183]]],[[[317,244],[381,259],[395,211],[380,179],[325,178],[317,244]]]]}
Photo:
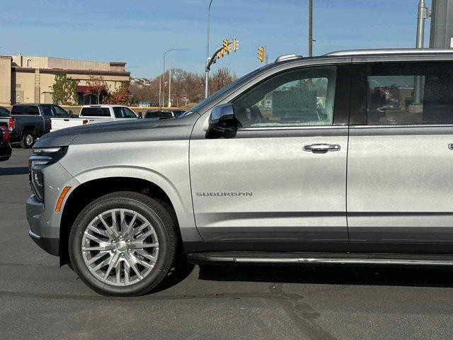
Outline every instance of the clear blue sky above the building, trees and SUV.
{"type": "MultiPolygon", "coordinates": [[[[210,0],[2,0],[0,55],[127,62],[134,77],[172,67],[204,72],[210,0]],[[168,63],[167,63],[168,67],[168,63]]],[[[314,55],[333,50],[414,47],[418,0],[314,0],[314,55]]],[[[430,6],[431,1],[427,4],[430,6]]],[[[425,27],[428,46],[429,20],[425,27]]],[[[210,52],[224,38],[239,50],[212,66],[238,77],[278,55],[307,55],[307,0],[213,0],[210,52]]]]}

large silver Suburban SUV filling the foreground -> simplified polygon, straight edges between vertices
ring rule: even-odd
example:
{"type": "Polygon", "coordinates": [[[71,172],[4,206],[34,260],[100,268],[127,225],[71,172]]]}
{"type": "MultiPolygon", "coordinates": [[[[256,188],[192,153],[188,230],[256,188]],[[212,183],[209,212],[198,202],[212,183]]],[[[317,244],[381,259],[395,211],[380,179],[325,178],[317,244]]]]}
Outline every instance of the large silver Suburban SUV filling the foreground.
{"type": "Polygon", "coordinates": [[[178,252],[452,265],[452,164],[452,50],[287,55],[180,118],[43,136],[30,237],[105,295],[147,293],[178,252]]]}

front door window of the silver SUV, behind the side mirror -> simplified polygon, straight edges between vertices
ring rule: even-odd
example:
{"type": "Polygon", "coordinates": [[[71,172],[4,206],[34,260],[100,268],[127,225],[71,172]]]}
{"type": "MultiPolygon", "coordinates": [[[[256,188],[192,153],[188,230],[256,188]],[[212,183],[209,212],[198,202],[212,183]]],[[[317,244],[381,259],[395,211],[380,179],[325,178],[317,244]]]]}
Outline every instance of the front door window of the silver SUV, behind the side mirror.
{"type": "Polygon", "coordinates": [[[242,128],[333,124],[336,67],[277,74],[233,101],[242,128]]]}

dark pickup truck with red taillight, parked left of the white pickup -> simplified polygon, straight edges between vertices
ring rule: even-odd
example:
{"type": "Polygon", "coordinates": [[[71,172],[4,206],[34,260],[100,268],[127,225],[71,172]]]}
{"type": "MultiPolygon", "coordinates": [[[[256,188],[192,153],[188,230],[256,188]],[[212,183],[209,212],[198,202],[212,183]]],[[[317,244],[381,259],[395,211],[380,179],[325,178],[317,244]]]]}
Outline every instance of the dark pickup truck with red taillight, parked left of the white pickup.
{"type": "Polygon", "coordinates": [[[0,118],[0,125],[7,121],[11,142],[20,142],[21,147],[32,147],[35,140],[50,132],[50,118],[69,118],[68,113],[55,104],[16,104],[9,117],[0,118]]]}

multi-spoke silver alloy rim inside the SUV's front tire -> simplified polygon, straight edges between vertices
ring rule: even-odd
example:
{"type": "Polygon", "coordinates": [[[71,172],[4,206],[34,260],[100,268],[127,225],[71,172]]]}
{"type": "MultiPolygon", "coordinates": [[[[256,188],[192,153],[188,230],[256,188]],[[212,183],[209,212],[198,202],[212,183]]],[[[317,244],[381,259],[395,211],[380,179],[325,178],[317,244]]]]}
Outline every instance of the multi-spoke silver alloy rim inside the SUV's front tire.
{"type": "Polygon", "coordinates": [[[86,227],[81,252],[90,273],[103,283],[133,285],[151,273],[159,239],[147,218],[129,209],[102,212],[86,227]]]}

